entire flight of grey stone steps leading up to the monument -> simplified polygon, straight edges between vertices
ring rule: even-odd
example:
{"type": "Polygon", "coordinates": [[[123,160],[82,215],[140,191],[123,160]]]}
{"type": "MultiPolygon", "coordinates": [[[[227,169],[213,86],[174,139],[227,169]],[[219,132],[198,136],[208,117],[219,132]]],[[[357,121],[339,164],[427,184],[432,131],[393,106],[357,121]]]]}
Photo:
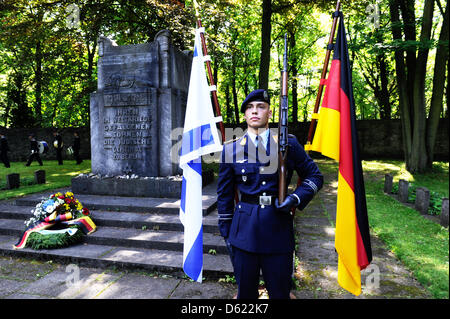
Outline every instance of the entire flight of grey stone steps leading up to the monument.
{"type": "MultiPolygon", "coordinates": [[[[206,187],[205,187],[206,189],[206,187]]],[[[215,187],[203,192],[203,276],[232,275],[233,268],[217,226],[215,187]]],[[[68,191],[65,189],[64,191],[68,191]]],[[[83,243],[51,250],[14,250],[24,221],[52,192],[28,195],[0,204],[0,254],[55,260],[91,267],[144,269],[184,276],[180,199],[77,195],[89,208],[98,229],[83,243]]]]}

